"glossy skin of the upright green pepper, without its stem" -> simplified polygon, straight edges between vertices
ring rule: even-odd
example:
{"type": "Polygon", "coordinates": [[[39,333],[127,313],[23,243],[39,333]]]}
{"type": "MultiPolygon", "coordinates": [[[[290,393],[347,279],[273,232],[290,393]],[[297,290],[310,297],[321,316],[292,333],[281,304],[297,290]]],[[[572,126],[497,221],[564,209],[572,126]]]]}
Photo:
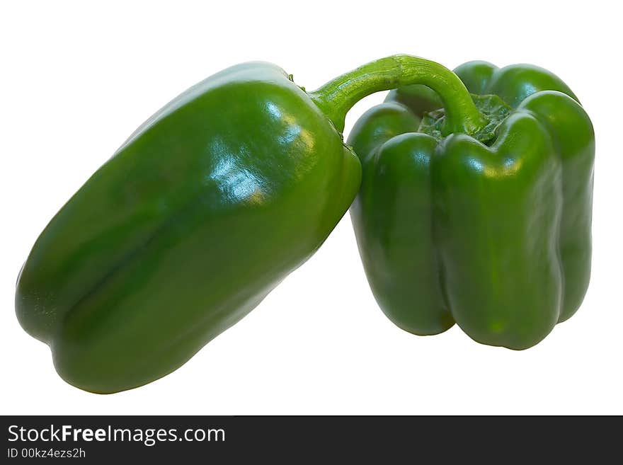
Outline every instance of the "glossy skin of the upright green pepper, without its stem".
{"type": "Polygon", "coordinates": [[[479,343],[530,348],[588,287],[593,126],[544,69],[469,62],[455,72],[514,111],[491,147],[418,133],[421,115],[441,106],[423,86],[362,115],[348,139],[363,167],[350,209],[362,262],[379,306],[406,331],[456,322],[479,343]]]}

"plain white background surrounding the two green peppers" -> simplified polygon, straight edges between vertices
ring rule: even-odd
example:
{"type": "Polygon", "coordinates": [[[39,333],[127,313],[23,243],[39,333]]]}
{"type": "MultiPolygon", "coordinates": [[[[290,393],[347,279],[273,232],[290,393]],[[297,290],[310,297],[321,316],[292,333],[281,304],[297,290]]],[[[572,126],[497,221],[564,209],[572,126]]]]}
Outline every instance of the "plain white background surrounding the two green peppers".
{"type": "MultiPolygon", "coordinates": [[[[623,413],[623,37],[616,2],[6,1],[0,11],[0,413],[623,413]],[[581,6],[575,6],[581,5],[581,6]],[[611,6],[612,5],[612,6],[611,6]],[[535,348],[417,337],[379,310],[348,214],[324,246],[173,374],[101,396],[21,330],[18,270],[57,209],[149,115],[248,60],[314,89],[395,53],[541,65],[597,134],[593,278],[535,348]]],[[[351,111],[346,134],[366,108],[351,111]]]]}

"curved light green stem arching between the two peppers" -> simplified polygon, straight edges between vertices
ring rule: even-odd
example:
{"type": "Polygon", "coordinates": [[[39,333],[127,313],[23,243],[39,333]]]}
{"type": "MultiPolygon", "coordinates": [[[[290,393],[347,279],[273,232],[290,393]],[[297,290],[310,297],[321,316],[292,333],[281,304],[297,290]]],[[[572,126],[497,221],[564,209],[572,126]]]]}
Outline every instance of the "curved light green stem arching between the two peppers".
{"type": "Polygon", "coordinates": [[[327,84],[309,96],[339,130],[344,130],[348,110],[365,96],[379,91],[423,84],[433,89],[445,108],[443,135],[474,134],[487,123],[471,100],[462,81],[450,69],[428,59],[394,55],[364,64],[327,84]]]}

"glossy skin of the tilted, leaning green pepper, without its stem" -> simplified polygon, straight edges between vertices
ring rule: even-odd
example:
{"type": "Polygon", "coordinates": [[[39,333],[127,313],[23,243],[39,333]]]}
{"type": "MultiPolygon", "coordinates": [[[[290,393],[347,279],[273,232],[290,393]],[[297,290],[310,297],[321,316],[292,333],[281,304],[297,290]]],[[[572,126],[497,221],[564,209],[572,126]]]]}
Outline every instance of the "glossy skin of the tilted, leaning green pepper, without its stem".
{"type": "Polygon", "coordinates": [[[226,69],[147,120],[47,225],[18,278],[18,319],[74,386],[154,381],[319,248],[360,174],[285,71],[226,69]]]}

